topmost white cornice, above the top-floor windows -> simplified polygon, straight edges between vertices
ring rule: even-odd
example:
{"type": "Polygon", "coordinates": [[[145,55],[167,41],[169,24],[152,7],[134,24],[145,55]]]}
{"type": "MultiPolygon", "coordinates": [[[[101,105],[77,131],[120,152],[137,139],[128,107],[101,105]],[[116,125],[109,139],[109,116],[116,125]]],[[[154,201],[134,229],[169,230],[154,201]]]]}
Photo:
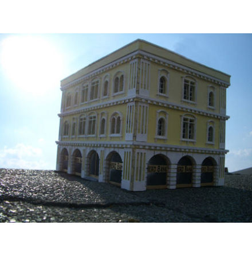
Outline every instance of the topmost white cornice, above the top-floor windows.
{"type": "Polygon", "coordinates": [[[179,71],[181,71],[181,72],[183,72],[187,75],[198,77],[198,78],[206,80],[208,82],[218,84],[219,86],[223,86],[223,87],[226,87],[226,88],[230,86],[230,83],[227,83],[227,82],[225,82],[221,79],[218,79],[214,76],[207,75],[205,73],[196,71],[195,69],[188,68],[184,65],[175,63],[174,61],[163,59],[162,57],[157,57],[155,55],[152,55],[151,53],[139,50],[139,51],[132,52],[129,55],[126,55],[124,57],[121,57],[120,59],[115,60],[112,63],[109,63],[109,64],[107,64],[107,65],[105,65],[101,68],[98,68],[98,69],[90,72],[90,73],[87,73],[86,75],[83,75],[78,79],[74,79],[72,82],[66,83],[64,86],[61,86],[61,90],[66,90],[69,87],[72,87],[72,86],[74,86],[78,83],[82,83],[85,80],[88,80],[88,79],[93,78],[97,75],[100,75],[103,72],[107,72],[109,69],[112,69],[112,68],[114,68],[114,67],[116,67],[120,64],[127,63],[128,61],[131,61],[132,59],[135,59],[136,55],[143,55],[143,58],[145,60],[149,60],[149,61],[152,61],[153,63],[164,65],[168,68],[179,70],[179,71]]]}

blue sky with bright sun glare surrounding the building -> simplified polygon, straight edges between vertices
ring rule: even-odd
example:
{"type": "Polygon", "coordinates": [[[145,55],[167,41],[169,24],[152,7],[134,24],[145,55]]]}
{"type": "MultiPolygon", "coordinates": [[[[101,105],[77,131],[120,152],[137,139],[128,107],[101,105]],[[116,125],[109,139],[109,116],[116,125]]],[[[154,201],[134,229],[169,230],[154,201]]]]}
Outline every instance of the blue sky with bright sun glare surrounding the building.
{"type": "Polygon", "coordinates": [[[226,166],[252,166],[252,34],[0,34],[0,168],[55,169],[60,80],[141,38],[231,75],[226,166]]]}

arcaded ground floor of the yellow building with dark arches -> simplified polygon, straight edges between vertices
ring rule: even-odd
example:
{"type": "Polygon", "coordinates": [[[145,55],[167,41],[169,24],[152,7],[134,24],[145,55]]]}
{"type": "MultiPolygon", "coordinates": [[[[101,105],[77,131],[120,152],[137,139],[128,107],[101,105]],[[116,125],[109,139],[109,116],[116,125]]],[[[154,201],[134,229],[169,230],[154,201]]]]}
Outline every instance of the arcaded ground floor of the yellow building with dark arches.
{"type": "Polygon", "coordinates": [[[195,149],[69,143],[57,153],[57,170],[131,191],[224,185],[224,165],[225,153],[195,149]]]}

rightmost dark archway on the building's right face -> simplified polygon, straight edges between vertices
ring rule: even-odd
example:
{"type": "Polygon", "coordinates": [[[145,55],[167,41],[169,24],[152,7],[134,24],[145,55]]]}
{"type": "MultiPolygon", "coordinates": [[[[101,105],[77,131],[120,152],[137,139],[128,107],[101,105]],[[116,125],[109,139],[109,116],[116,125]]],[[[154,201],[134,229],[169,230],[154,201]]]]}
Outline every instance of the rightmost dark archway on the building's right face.
{"type": "Polygon", "coordinates": [[[201,165],[201,186],[214,185],[214,170],[216,162],[211,157],[207,157],[201,165]]]}

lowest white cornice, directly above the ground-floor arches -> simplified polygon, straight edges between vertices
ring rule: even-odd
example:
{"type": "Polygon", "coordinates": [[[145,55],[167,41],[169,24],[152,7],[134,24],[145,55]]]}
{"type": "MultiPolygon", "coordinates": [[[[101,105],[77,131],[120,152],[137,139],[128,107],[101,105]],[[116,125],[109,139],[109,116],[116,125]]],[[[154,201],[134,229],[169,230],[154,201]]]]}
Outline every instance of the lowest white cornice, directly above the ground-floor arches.
{"type": "Polygon", "coordinates": [[[147,143],[147,142],[135,142],[135,141],[111,141],[111,142],[97,142],[97,141],[56,141],[60,146],[85,146],[85,147],[97,147],[97,148],[140,148],[151,149],[155,151],[166,150],[174,152],[190,152],[190,153],[205,153],[205,154],[226,154],[229,150],[225,149],[207,149],[207,148],[194,148],[189,146],[175,146],[167,144],[147,143]]]}

